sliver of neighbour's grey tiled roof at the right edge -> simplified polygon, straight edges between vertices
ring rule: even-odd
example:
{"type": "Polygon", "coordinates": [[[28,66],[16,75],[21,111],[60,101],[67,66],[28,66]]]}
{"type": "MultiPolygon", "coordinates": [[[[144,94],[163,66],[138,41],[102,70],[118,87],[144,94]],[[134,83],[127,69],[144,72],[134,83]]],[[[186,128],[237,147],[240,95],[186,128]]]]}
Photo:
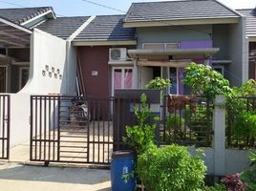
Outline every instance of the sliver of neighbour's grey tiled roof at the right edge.
{"type": "Polygon", "coordinates": [[[246,16],[246,35],[256,36],[256,9],[238,11],[246,16]]]}

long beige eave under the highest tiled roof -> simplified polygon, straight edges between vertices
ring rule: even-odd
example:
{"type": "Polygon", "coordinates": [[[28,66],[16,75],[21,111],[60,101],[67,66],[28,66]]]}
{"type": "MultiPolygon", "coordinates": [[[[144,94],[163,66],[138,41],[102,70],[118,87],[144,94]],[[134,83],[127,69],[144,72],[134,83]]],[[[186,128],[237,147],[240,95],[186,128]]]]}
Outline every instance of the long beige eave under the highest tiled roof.
{"type": "Polygon", "coordinates": [[[159,21],[135,21],[123,22],[123,28],[137,27],[160,27],[160,26],[181,26],[181,25],[205,25],[205,24],[231,24],[238,23],[240,17],[226,18],[194,18],[194,19],[177,19],[177,20],[159,20],[159,21]]]}

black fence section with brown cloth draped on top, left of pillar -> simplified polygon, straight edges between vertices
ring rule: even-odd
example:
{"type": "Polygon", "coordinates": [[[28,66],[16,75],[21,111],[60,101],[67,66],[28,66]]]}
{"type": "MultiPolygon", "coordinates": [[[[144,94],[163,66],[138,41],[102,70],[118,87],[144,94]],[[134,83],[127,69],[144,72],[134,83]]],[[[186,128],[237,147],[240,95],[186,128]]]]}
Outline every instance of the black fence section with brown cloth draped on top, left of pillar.
{"type": "Polygon", "coordinates": [[[213,103],[205,96],[164,96],[160,144],[211,146],[213,103]]]}

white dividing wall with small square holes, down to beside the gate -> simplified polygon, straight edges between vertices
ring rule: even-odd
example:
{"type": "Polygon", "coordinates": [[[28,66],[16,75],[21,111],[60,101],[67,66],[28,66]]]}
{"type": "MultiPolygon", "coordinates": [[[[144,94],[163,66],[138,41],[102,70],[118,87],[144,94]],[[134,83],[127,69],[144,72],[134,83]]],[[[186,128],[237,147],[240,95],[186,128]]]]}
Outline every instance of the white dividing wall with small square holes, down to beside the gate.
{"type": "Polygon", "coordinates": [[[30,139],[31,96],[74,94],[75,74],[75,48],[59,37],[34,29],[29,81],[18,94],[11,94],[11,147],[30,139]]]}

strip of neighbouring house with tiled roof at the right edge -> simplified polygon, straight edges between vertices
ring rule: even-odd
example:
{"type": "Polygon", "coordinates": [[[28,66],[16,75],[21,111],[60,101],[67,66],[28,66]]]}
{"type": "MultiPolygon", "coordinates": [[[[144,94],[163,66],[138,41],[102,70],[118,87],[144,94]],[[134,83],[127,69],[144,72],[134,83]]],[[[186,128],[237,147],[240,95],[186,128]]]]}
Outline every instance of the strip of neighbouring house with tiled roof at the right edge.
{"type": "Polygon", "coordinates": [[[246,16],[246,36],[249,41],[249,74],[248,77],[256,79],[256,9],[238,10],[246,16]]]}

